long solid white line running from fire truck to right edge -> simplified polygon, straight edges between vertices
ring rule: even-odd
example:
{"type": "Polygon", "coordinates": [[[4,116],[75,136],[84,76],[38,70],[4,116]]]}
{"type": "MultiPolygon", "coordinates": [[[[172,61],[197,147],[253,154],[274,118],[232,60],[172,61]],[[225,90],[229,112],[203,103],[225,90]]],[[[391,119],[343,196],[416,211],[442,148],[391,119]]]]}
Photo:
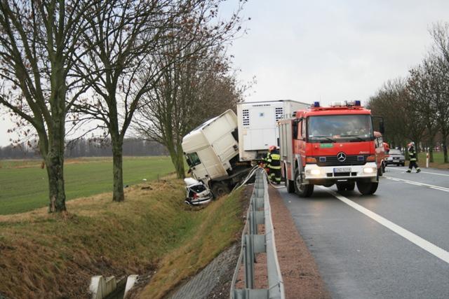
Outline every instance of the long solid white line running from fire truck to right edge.
{"type": "Polygon", "coordinates": [[[349,205],[349,207],[356,209],[357,211],[361,212],[362,214],[365,214],[366,216],[370,217],[377,223],[384,225],[384,227],[388,228],[389,230],[396,232],[396,234],[400,235],[401,237],[408,239],[413,244],[420,246],[425,251],[431,253],[432,255],[436,256],[437,258],[440,258],[441,260],[445,261],[446,263],[449,263],[449,252],[448,251],[445,251],[444,249],[441,249],[440,247],[436,246],[435,244],[432,244],[431,242],[429,242],[425,239],[422,239],[422,237],[415,235],[413,232],[410,232],[410,231],[406,230],[405,228],[402,228],[401,226],[389,221],[388,219],[380,216],[379,214],[375,214],[375,212],[370,211],[369,209],[366,209],[365,207],[362,207],[360,204],[356,204],[352,200],[349,200],[348,198],[336,193],[335,191],[330,190],[330,188],[326,188],[323,186],[320,186],[320,188],[322,188],[323,190],[326,190],[326,192],[337,197],[339,200],[341,200],[345,204],[349,205]]]}

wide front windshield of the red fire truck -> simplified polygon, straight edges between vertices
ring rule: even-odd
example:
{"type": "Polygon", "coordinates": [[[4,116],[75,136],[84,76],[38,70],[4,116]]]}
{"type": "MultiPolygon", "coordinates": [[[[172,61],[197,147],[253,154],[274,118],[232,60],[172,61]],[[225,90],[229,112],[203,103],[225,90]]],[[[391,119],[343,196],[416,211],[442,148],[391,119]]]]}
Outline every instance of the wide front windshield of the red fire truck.
{"type": "Polygon", "coordinates": [[[372,140],[371,116],[367,114],[309,116],[307,139],[309,142],[372,140]]]}

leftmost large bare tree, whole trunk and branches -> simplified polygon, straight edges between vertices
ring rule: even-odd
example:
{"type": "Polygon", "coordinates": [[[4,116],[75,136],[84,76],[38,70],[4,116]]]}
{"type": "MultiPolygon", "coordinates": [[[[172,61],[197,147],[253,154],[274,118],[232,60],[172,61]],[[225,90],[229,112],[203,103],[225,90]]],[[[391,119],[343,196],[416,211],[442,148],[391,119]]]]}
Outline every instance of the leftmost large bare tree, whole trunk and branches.
{"type": "MultiPolygon", "coordinates": [[[[45,160],[50,211],[66,211],[64,187],[65,121],[84,91],[71,78],[86,20],[95,1],[0,1],[0,104],[29,123],[45,160]]],[[[29,130],[24,134],[29,134],[29,130]]]]}

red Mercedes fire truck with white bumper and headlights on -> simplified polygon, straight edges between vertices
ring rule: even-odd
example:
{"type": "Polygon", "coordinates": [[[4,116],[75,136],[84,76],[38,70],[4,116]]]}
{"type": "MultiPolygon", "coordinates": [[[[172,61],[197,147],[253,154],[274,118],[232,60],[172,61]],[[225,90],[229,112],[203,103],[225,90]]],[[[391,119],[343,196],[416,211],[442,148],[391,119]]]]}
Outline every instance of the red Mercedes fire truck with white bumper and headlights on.
{"type": "MultiPolygon", "coordinates": [[[[363,195],[375,193],[379,172],[373,117],[360,101],[329,107],[314,102],[278,125],[282,175],[289,193],[309,197],[315,185],[334,183],[338,190],[354,190],[357,185],[363,195]]],[[[384,131],[383,122],[379,131],[384,131]]]]}

